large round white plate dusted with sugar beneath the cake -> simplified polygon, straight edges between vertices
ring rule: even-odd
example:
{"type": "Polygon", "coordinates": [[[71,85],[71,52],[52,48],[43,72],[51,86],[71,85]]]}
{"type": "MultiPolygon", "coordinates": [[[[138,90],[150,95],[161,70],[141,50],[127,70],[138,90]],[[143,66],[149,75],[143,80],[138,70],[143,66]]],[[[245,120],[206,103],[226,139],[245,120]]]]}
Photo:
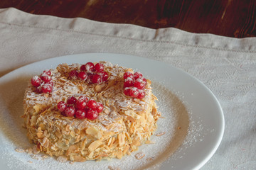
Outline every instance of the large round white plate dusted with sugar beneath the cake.
{"type": "Polygon", "coordinates": [[[104,53],[55,57],[28,64],[1,77],[0,91],[0,164],[1,168],[4,169],[39,169],[39,166],[43,166],[43,169],[80,169],[81,167],[92,169],[94,166],[99,166],[100,169],[100,165],[108,169],[109,164],[111,166],[115,164],[121,166],[119,162],[126,164],[122,169],[134,169],[134,167],[139,167],[139,169],[150,167],[152,169],[157,167],[161,167],[160,169],[200,169],[213,156],[220,145],[224,132],[223,111],[218,100],[205,85],[180,69],[144,57],[104,53]],[[159,150],[159,152],[161,150],[161,153],[155,154],[153,161],[146,160],[146,156],[144,160],[138,161],[134,159],[134,154],[136,154],[134,153],[132,156],[124,157],[121,160],[114,159],[110,163],[102,161],[100,163],[84,162],[63,165],[56,163],[54,159],[38,161],[31,159],[26,153],[15,152],[15,148],[29,146],[25,137],[26,130],[21,128],[23,120],[19,116],[23,113],[23,93],[31,76],[39,74],[44,69],[55,68],[58,64],[64,62],[82,64],[102,60],[139,69],[147,78],[152,80],[154,94],[160,97],[158,101],[159,111],[166,117],[159,120],[158,132],[172,133],[172,137],[180,135],[179,143],[176,139],[171,139],[171,135],[152,136],[152,140],[156,141],[156,144],[144,145],[140,151],[150,156],[150,152],[153,153],[154,149],[159,150]],[[169,103],[177,105],[177,102],[181,107],[169,108],[171,106],[169,106],[169,103]],[[174,111],[171,111],[171,109],[174,111]],[[178,113],[182,109],[186,112],[185,114],[178,113]],[[168,120],[169,117],[177,119],[177,121],[180,120],[180,123],[168,120]],[[181,131],[176,130],[178,126],[181,126],[181,131]],[[169,139],[171,139],[170,142],[169,139]],[[167,145],[178,144],[173,146],[172,149],[171,147],[163,149],[162,146],[166,147],[164,142],[167,142],[167,145]],[[170,156],[170,154],[172,155],[170,156]],[[161,162],[164,163],[160,164],[161,162]],[[132,164],[135,164],[135,166],[132,164]],[[158,165],[156,166],[156,164],[158,165]]]}

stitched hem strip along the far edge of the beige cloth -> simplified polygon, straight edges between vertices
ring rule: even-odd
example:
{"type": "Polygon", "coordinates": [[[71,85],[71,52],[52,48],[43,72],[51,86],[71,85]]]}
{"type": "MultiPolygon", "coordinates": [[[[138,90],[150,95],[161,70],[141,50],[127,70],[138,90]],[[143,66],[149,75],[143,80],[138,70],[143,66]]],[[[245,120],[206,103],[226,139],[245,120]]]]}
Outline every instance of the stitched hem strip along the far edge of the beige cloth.
{"type": "Polygon", "coordinates": [[[226,38],[211,34],[188,33],[176,28],[157,30],[131,24],[102,23],[85,18],[59,18],[55,16],[38,16],[18,11],[16,8],[0,10],[0,21],[21,27],[65,30],[68,32],[113,36],[141,41],[154,41],[183,46],[230,50],[233,52],[256,52],[256,38],[226,38]]]}

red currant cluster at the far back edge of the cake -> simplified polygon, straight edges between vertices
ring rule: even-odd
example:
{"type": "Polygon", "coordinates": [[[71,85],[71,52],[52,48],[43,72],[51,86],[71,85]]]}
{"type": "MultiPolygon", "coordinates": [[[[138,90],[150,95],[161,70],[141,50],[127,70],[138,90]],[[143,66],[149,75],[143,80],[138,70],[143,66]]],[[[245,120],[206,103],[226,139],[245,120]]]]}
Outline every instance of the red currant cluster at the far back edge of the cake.
{"type": "Polygon", "coordinates": [[[72,70],[70,72],[71,79],[80,79],[92,84],[101,84],[103,81],[107,81],[108,74],[104,71],[104,65],[102,63],[93,64],[87,62],[81,65],[80,71],[72,70]]]}

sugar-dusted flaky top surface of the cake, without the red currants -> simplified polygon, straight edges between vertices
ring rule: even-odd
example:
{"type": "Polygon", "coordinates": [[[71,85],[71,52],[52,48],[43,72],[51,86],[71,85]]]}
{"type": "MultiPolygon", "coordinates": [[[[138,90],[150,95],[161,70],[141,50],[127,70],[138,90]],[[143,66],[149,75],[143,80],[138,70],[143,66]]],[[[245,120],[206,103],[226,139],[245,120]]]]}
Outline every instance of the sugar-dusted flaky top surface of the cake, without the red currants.
{"type": "MultiPolygon", "coordinates": [[[[70,79],[69,72],[78,70],[80,64],[60,64],[56,69],[50,69],[54,82],[53,91],[50,94],[39,94],[31,84],[25,92],[24,109],[33,114],[40,114],[46,121],[60,125],[72,125],[82,130],[88,125],[93,125],[104,131],[119,131],[122,128],[122,115],[128,119],[139,119],[142,112],[149,107],[151,100],[151,86],[148,81],[144,91],[146,96],[142,99],[124,95],[124,72],[133,72],[132,69],[113,65],[110,62],[104,64],[105,71],[109,74],[107,81],[102,84],[90,84],[85,81],[70,79]],[[97,120],[78,120],[63,116],[56,108],[59,101],[65,101],[69,96],[86,96],[95,101],[100,101],[104,110],[97,120]]],[[[156,99],[156,98],[154,98],[156,99]]]]}

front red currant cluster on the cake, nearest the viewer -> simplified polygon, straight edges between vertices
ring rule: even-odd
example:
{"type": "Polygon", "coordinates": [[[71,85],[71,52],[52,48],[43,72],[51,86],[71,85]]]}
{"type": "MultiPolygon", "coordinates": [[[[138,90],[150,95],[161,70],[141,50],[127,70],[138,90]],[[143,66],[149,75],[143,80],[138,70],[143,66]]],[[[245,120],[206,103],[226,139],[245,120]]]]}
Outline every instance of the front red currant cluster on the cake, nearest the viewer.
{"type": "Polygon", "coordinates": [[[60,101],[57,107],[65,116],[75,116],[75,118],[87,118],[89,120],[97,119],[99,113],[101,113],[104,108],[102,103],[92,99],[89,100],[85,96],[80,96],[78,99],[75,98],[75,96],[70,96],[67,98],[67,102],[60,101]]]}

